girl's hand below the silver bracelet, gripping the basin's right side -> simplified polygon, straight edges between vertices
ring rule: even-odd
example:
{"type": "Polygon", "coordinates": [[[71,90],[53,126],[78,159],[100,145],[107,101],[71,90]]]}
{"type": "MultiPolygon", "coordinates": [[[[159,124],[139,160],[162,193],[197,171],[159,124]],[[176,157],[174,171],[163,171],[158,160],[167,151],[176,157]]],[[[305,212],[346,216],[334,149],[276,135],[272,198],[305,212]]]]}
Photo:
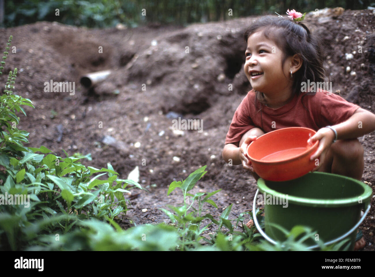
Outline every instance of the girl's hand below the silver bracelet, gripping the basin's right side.
{"type": "MultiPolygon", "coordinates": [[[[318,132],[311,137],[311,142],[315,143],[317,140],[320,140],[317,151],[312,154],[310,160],[315,160],[318,158],[318,166],[315,167],[312,171],[316,171],[324,163],[328,149],[333,143],[336,135],[330,128],[321,128],[318,132]]],[[[310,139],[309,139],[310,140],[310,139]]],[[[309,142],[308,140],[308,142],[309,142]]]]}

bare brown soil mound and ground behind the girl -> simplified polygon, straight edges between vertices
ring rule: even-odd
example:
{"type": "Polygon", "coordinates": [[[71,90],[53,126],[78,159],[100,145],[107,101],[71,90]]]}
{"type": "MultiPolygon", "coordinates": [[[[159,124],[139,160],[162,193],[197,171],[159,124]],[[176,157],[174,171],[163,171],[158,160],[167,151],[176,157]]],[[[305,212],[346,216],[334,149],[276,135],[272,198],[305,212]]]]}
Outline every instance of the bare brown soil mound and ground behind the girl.
{"type": "MultiPolygon", "coordinates": [[[[15,93],[34,103],[35,109],[25,107],[27,117],[20,114],[18,128],[30,132],[26,146],[44,145],[62,157],[62,149],[69,155],[91,153],[93,160],[82,160],[83,164],[101,168],[109,162],[123,179],[139,166],[139,182],[149,193],[134,190],[127,196],[132,206],[122,219],[124,228],[130,222],[168,223],[159,208],[183,202],[178,190],[166,195],[169,184],[204,165],[208,172],[193,193],[221,188],[213,196],[219,209],[207,205],[208,212],[219,217],[233,203],[229,219],[234,219],[251,209],[257,189],[248,172],[241,166],[228,166],[221,158],[234,111],[251,89],[243,72],[243,33],[254,19],[186,28],[87,29],[38,22],[0,29],[1,49],[13,35],[12,46],[17,50],[6,60],[6,74],[0,81],[5,84],[9,70],[17,67],[15,93]],[[90,90],[80,85],[81,75],[105,69],[113,73],[103,83],[90,90]],[[44,92],[44,82],[49,80],[74,81],[75,95],[44,92]],[[233,84],[233,90],[228,90],[228,84],[233,84]],[[177,117],[202,119],[203,132],[175,134],[171,111],[177,117]],[[57,126],[63,127],[61,140],[57,126]],[[108,145],[106,136],[116,142],[108,145]],[[141,211],[144,208],[147,212],[141,211]]],[[[348,10],[335,18],[306,16],[306,21],[323,39],[333,91],[375,112],[374,13],[348,10]],[[353,51],[353,58],[347,60],[345,53],[353,51]],[[353,71],[355,75],[350,74],[353,71]]],[[[365,148],[362,181],[369,182],[373,190],[374,137],[372,132],[359,138],[365,148]]],[[[365,250],[374,250],[374,200],[360,225],[365,250]]]]}

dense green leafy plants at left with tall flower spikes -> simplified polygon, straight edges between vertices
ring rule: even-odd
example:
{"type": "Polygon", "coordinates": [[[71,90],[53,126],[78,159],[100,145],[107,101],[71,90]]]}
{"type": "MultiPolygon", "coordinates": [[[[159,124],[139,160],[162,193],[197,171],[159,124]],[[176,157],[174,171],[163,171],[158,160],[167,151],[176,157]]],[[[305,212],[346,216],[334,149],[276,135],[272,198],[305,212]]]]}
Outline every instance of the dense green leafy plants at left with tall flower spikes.
{"type": "MultiPolygon", "coordinates": [[[[11,41],[12,36],[1,74],[11,41]]],[[[127,211],[129,200],[124,193],[131,188],[143,189],[141,185],[119,179],[110,163],[107,169],[96,169],[78,161],[90,158],[90,154],[69,157],[63,150],[66,158],[62,158],[48,154],[52,151],[45,146],[25,147],[29,133],[17,128],[16,113],[22,111],[26,116],[21,105],[34,106],[30,99],[13,93],[16,77],[17,68],[9,72],[0,105],[0,248],[20,250],[39,244],[39,235],[65,234],[85,219],[115,224],[115,217],[127,211]],[[96,173],[101,174],[93,176],[96,173]],[[103,175],[108,177],[99,179],[103,175]]]]}

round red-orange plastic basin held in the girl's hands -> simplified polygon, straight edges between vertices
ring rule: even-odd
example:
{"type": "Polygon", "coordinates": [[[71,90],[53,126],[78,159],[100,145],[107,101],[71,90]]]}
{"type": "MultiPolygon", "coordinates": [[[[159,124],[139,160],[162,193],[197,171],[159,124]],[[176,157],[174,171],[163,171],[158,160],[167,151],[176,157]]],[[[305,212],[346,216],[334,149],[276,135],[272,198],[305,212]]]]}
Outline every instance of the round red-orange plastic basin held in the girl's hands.
{"type": "Polygon", "coordinates": [[[254,171],[269,181],[293,180],[310,172],[315,167],[310,157],[319,141],[313,145],[307,141],[315,133],[310,128],[291,127],[261,135],[247,149],[254,171]]]}

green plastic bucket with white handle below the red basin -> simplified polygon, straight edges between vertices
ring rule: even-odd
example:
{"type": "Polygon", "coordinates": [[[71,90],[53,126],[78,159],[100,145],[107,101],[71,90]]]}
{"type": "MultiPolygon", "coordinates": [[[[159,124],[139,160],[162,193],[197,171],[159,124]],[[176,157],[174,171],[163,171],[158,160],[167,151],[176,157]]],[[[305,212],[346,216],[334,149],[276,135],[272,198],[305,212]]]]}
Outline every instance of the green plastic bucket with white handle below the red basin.
{"type": "MultiPolygon", "coordinates": [[[[313,172],[300,178],[272,182],[258,179],[258,190],[253,202],[255,226],[268,241],[285,241],[286,237],[274,224],[290,231],[296,225],[311,227],[318,238],[332,244],[349,238],[340,249],[350,246],[354,250],[357,227],[369,209],[372,189],[356,179],[346,176],[313,172]],[[255,215],[259,191],[263,194],[265,231],[260,228],[255,215]],[[366,209],[360,218],[361,209],[366,209]]],[[[306,244],[316,248],[312,239],[306,244]]]]}

